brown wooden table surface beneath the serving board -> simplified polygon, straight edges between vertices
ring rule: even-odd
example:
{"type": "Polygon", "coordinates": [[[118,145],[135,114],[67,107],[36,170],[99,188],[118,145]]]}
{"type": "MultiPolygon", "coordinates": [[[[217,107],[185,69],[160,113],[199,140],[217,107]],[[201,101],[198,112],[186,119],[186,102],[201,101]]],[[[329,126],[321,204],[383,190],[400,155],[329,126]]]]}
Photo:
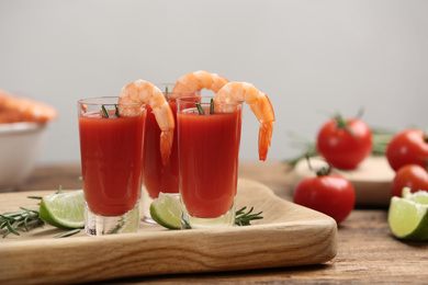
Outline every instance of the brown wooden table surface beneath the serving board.
{"type": "MultiPolygon", "coordinates": [[[[81,189],[79,166],[37,168],[18,191],[81,189]]],[[[241,162],[240,178],[259,181],[292,200],[293,173],[281,162],[241,162]]],[[[387,209],[354,209],[339,227],[337,256],[326,264],[241,272],[165,275],[109,284],[428,284],[428,242],[403,242],[388,230],[387,209]]]]}

